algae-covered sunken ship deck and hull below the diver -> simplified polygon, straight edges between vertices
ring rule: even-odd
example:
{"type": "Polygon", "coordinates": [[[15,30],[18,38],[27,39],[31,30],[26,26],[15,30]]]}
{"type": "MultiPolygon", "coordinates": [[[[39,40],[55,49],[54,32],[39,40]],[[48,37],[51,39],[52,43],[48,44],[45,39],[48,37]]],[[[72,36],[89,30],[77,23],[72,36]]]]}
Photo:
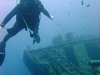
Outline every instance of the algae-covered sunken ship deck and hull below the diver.
{"type": "Polygon", "coordinates": [[[100,38],[26,49],[24,62],[33,75],[92,75],[89,60],[100,60],[100,38]]]}

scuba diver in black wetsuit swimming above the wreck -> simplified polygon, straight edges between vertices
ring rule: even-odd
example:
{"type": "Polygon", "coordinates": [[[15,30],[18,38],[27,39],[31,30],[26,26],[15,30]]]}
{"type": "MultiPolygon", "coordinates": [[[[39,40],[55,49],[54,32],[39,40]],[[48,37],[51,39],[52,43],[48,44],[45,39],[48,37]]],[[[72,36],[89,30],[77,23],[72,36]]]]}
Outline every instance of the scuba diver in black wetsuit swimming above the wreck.
{"type": "Polygon", "coordinates": [[[16,22],[12,28],[7,29],[8,34],[4,37],[0,43],[0,66],[5,58],[6,42],[16,35],[22,29],[30,32],[30,37],[33,37],[33,44],[40,42],[38,34],[40,14],[41,12],[48,18],[53,20],[54,16],[51,16],[49,12],[44,8],[43,4],[39,0],[20,0],[20,3],[5,17],[0,24],[0,30],[16,15],[16,22]]]}

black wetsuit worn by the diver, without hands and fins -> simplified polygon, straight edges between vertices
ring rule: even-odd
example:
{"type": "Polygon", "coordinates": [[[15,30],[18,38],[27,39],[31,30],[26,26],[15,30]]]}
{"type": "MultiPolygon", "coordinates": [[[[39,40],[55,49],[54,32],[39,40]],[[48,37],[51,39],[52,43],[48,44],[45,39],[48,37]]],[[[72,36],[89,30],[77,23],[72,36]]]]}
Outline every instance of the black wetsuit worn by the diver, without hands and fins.
{"type": "Polygon", "coordinates": [[[4,19],[2,22],[2,27],[4,27],[9,20],[16,15],[16,22],[12,28],[9,29],[8,34],[3,39],[2,43],[6,44],[7,40],[10,37],[13,37],[16,35],[19,31],[22,29],[26,29],[25,22],[23,18],[25,19],[28,27],[30,30],[34,31],[36,28],[38,29],[38,25],[40,22],[40,13],[44,13],[48,18],[50,17],[50,14],[48,11],[44,8],[44,6],[41,4],[41,2],[38,3],[20,3],[18,4],[4,19]]]}

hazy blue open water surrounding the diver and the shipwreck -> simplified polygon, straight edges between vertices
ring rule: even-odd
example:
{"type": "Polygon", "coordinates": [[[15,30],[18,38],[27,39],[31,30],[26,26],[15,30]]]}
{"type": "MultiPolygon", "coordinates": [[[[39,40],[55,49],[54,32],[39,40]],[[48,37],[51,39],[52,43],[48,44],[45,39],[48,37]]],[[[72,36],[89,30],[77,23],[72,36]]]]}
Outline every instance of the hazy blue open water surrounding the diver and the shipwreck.
{"type": "MultiPolygon", "coordinates": [[[[0,66],[0,75],[32,75],[23,62],[23,52],[27,45],[33,49],[52,45],[52,38],[67,32],[74,32],[76,36],[100,36],[100,0],[41,0],[44,7],[54,16],[54,21],[41,14],[39,35],[41,43],[32,44],[29,32],[22,30],[12,37],[6,44],[6,57],[0,66]],[[90,5],[89,7],[86,7],[90,5]]],[[[0,23],[16,6],[16,0],[0,0],[0,23]]],[[[13,26],[15,17],[6,25],[13,26]]],[[[7,34],[6,29],[0,31],[0,41],[7,34]]]]}

